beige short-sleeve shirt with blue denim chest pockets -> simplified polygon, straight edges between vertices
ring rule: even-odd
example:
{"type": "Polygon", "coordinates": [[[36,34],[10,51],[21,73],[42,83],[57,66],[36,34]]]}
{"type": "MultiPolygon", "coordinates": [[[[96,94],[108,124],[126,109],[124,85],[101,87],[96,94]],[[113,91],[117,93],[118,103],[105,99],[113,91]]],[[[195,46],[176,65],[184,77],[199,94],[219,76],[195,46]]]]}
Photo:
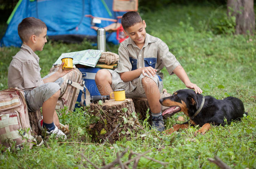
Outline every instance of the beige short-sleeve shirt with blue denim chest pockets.
{"type": "Polygon", "coordinates": [[[118,73],[151,66],[157,70],[157,75],[163,78],[161,70],[164,66],[168,73],[172,74],[173,70],[180,65],[161,39],[147,33],[142,49],[138,48],[131,38],[127,38],[120,44],[118,54],[118,68],[115,69],[118,73]]]}

